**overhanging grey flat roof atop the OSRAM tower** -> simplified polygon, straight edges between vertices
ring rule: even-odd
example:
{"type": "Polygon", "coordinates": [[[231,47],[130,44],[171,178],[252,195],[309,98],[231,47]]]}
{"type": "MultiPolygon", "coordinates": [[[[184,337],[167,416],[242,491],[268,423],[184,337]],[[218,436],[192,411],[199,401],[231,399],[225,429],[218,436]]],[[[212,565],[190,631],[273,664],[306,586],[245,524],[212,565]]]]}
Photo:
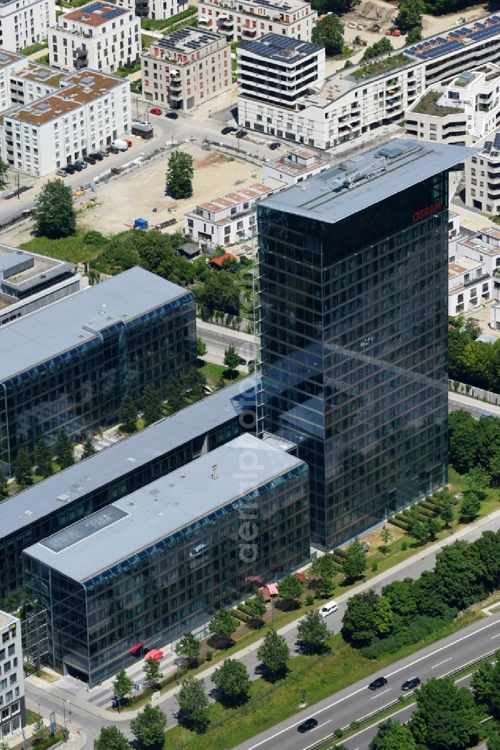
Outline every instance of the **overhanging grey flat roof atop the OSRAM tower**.
{"type": "Polygon", "coordinates": [[[259,205],[333,224],[477,152],[478,148],[393,138],[274,193],[259,205]]]}

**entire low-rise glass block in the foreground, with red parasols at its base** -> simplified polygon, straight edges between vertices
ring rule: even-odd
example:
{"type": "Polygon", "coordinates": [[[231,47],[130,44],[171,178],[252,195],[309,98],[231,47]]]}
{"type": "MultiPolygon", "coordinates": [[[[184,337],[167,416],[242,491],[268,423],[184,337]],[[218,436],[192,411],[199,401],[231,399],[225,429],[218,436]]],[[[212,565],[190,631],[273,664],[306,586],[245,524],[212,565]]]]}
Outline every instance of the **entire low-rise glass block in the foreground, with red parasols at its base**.
{"type": "Polygon", "coordinates": [[[307,465],[246,434],[23,557],[48,663],[93,687],[309,552],[307,465]]]}

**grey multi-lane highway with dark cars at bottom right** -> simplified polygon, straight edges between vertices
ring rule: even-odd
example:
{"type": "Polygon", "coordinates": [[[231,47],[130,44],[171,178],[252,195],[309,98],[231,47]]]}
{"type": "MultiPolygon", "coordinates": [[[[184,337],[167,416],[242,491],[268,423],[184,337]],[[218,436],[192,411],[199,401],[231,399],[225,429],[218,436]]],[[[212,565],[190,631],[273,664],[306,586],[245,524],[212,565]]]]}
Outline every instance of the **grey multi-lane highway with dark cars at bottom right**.
{"type": "MultiPolygon", "coordinates": [[[[378,691],[368,689],[368,679],[355,682],[349,688],[238,745],[238,750],[303,750],[327,737],[337,727],[345,727],[351,721],[396,700],[402,694],[402,683],[409,677],[415,675],[425,682],[431,677],[444,676],[500,646],[499,639],[500,614],[497,614],[392,664],[383,673],[388,684],[378,691]],[[318,726],[307,733],[299,733],[298,724],[310,717],[316,718],[318,726]]],[[[379,673],[374,672],[373,676],[379,676],[379,673]]],[[[466,684],[466,680],[461,680],[460,684],[466,684]]],[[[406,721],[410,712],[411,709],[403,709],[398,718],[406,721]]],[[[342,741],[349,750],[365,750],[374,734],[376,730],[359,732],[352,739],[342,741]]]]}

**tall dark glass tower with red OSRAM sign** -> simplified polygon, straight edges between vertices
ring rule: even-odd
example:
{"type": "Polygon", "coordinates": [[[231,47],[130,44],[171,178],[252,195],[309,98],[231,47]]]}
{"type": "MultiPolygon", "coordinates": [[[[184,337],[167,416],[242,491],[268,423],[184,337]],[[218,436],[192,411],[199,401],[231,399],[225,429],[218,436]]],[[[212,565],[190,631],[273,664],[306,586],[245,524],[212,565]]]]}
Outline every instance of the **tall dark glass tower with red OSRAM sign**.
{"type": "Polygon", "coordinates": [[[258,205],[262,429],[334,547],[447,480],[448,169],[397,139],[258,205]]]}

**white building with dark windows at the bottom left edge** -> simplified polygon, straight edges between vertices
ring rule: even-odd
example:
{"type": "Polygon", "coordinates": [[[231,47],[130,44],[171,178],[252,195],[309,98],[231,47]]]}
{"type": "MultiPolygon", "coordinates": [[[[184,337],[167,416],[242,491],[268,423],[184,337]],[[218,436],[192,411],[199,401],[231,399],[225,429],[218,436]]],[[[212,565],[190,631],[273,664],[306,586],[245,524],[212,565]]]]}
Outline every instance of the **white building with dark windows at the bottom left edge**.
{"type": "Polygon", "coordinates": [[[0,740],[20,733],[25,724],[21,622],[0,610],[0,740]]]}

